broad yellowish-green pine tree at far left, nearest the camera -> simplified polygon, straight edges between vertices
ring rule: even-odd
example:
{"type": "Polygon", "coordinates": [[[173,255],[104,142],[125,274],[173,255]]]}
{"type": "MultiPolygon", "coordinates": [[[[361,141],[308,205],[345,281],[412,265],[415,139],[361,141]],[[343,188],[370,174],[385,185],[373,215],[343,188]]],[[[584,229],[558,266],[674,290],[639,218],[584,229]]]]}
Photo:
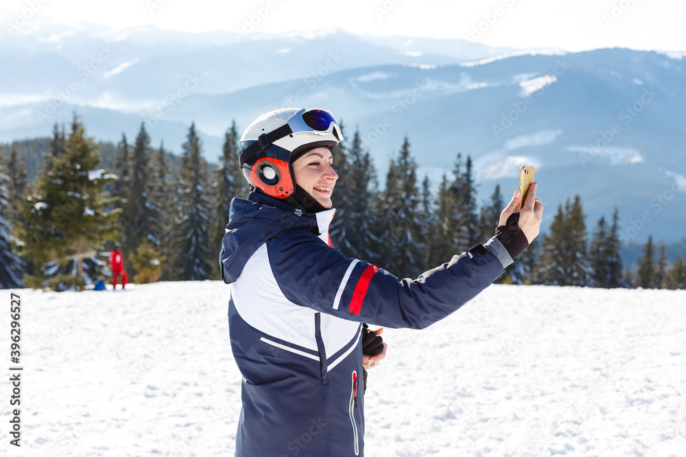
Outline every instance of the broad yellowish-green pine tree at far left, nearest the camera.
{"type": "Polygon", "coordinates": [[[23,254],[37,267],[29,285],[63,290],[99,275],[97,249],[115,234],[118,211],[110,210],[113,199],[104,190],[113,177],[98,170],[98,162],[97,147],[75,115],[64,157],[54,158],[22,204],[23,254]]]}

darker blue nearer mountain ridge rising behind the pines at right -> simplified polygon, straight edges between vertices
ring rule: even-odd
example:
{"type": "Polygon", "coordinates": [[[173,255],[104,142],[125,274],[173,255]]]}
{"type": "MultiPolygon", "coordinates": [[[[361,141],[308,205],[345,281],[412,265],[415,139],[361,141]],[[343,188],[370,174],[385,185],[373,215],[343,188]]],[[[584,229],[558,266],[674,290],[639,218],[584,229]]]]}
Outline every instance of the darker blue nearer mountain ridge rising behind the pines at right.
{"type": "Polygon", "coordinates": [[[519,166],[534,164],[547,223],[560,201],[579,193],[589,226],[617,206],[626,238],[672,240],[686,233],[685,64],[604,49],[473,66],[374,66],[333,73],[312,87],[294,80],[193,95],[169,117],[193,116],[218,135],[230,119],[246,125],[294,104],[292,97],[301,106],[330,107],[348,135],[359,126],[381,172],[404,135],[434,182],[458,152],[471,155],[482,198],[495,183],[510,192],[519,166]]]}

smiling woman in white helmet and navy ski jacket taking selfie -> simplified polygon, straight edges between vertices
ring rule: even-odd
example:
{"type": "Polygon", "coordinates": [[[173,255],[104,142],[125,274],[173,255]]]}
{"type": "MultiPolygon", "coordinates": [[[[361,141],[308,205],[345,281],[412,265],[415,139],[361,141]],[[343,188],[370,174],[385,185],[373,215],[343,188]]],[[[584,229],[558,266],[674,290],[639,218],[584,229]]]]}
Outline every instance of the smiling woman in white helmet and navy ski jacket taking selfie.
{"type": "Polygon", "coordinates": [[[447,317],[539,234],[534,184],[521,213],[512,197],[496,236],[417,280],[345,258],[328,231],[342,140],[330,112],[298,108],[263,114],[241,137],[252,193],[231,203],[220,254],[244,377],[240,457],[362,456],[362,323],[420,329],[447,317]]]}

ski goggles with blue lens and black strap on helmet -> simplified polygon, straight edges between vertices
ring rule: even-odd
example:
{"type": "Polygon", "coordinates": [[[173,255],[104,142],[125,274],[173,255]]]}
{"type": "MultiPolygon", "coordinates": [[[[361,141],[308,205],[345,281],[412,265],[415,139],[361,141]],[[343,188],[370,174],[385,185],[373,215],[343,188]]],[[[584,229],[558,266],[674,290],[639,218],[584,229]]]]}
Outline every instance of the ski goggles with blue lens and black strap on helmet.
{"type": "Polygon", "coordinates": [[[336,122],[331,112],[319,109],[305,110],[303,108],[290,116],[284,125],[272,130],[268,134],[261,134],[255,143],[246,147],[240,155],[241,163],[246,162],[246,159],[253,154],[267,149],[274,141],[299,133],[311,133],[321,136],[333,135],[339,143],[343,140],[338,122],[336,122]]]}

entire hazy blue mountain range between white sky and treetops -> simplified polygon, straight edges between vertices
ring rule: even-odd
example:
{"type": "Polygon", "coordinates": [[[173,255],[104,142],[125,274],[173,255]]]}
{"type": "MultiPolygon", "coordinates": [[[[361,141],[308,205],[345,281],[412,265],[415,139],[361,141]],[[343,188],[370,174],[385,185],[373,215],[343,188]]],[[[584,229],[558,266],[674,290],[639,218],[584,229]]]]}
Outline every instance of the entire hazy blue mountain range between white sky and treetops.
{"type": "Polygon", "coordinates": [[[0,41],[0,141],[45,136],[77,110],[99,139],[132,137],[145,121],[153,143],[163,138],[172,151],[195,121],[213,160],[234,119],[240,130],[266,110],[320,106],[348,136],[359,127],[381,183],[407,135],[420,177],[434,183],[458,152],[469,154],[480,201],[496,183],[508,199],[519,166],[534,164],[546,225],[578,193],[589,230],[617,206],[628,240],[686,234],[683,55],[514,51],[336,30],[237,40],[51,27],[0,41]],[[106,51],[99,69],[84,69],[106,51]],[[77,90],[60,96],[73,81],[77,90]]]}

